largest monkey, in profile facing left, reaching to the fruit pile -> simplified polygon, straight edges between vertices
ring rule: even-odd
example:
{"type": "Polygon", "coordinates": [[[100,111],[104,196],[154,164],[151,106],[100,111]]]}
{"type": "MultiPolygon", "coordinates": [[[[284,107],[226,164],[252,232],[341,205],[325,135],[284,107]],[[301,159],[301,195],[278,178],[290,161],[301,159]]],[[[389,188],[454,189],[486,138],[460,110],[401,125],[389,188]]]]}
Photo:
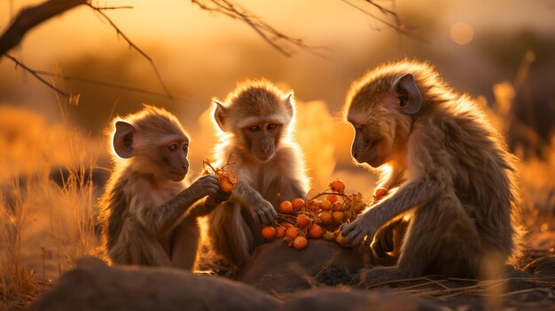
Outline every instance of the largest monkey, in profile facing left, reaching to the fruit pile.
{"type": "Polygon", "coordinates": [[[515,253],[520,195],[514,158],[481,107],[429,64],[403,60],[353,82],[344,108],[353,158],[387,163],[381,186],[396,188],[342,228],[346,241],[369,245],[377,230],[412,214],[397,265],[363,271],[366,281],[480,277],[485,265],[503,267],[515,253]]]}

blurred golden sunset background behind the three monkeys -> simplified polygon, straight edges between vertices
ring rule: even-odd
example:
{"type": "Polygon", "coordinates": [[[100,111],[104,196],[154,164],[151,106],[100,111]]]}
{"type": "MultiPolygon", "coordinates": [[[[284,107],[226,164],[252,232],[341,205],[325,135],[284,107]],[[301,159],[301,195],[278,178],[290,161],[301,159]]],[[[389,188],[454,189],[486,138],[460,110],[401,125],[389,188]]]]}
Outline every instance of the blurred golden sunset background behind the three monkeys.
{"type": "MultiPolygon", "coordinates": [[[[0,32],[21,8],[38,3],[0,1],[0,32]]],[[[412,35],[387,27],[379,19],[395,23],[395,16],[359,0],[234,3],[285,35],[325,49],[301,49],[277,41],[292,54],[288,57],[240,20],[207,12],[189,1],[136,0],[97,5],[133,6],[105,13],[152,58],[173,98],[164,96],[150,63],[129,49],[106,19],[86,6],[36,27],[10,51],[30,68],[57,74],[44,77],[78,98],[60,97],[14,66],[12,60],[0,58],[0,184],[5,205],[19,204],[27,211],[19,216],[23,228],[18,237],[28,247],[18,256],[30,267],[40,270],[41,265],[50,265],[55,270],[50,277],[55,277],[65,262],[71,265],[72,256],[84,252],[77,248],[62,256],[59,253],[66,252],[63,245],[70,242],[60,246],[57,239],[71,235],[67,233],[71,230],[88,230],[79,213],[93,213],[106,169],[111,167],[102,133],[114,115],[135,112],[142,103],[176,113],[192,136],[190,159],[195,175],[216,143],[211,98],[223,99],[236,82],[247,77],[266,77],[284,91],[294,91],[297,139],[307,157],[314,188],[324,189],[332,178],[340,177],[348,191],[358,190],[370,198],[375,175],[353,165],[349,155],[353,133],[341,121],[340,108],[353,80],[381,62],[405,57],[431,61],[455,89],[479,99],[492,122],[504,131],[512,152],[522,160],[528,226],[538,234],[551,232],[555,208],[555,3],[376,1],[396,12],[401,21],[397,25],[412,35]],[[82,167],[100,172],[93,176],[98,183],[82,183],[79,174],[88,174],[82,167]],[[66,180],[74,183],[74,192],[67,190],[66,184],[58,186],[56,193],[61,194],[52,195],[52,170],[81,172],[66,180]],[[15,187],[14,178],[22,175],[33,177],[15,187]],[[37,182],[29,183],[30,179],[37,182]],[[32,200],[22,195],[18,201],[16,192],[34,195],[32,200]],[[81,212],[83,208],[85,212],[81,212]],[[67,215],[68,210],[73,215],[67,215]],[[38,225],[52,215],[65,219],[59,221],[65,225],[55,226],[52,221],[38,225]],[[74,228],[66,228],[70,223],[74,228]],[[39,232],[48,232],[51,242],[45,242],[39,232]]],[[[535,239],[535,247],[552,252],[550,237],[535,239]]],[[[83,236],[74,243],[94,249],[93,240],[83,236]]]]}

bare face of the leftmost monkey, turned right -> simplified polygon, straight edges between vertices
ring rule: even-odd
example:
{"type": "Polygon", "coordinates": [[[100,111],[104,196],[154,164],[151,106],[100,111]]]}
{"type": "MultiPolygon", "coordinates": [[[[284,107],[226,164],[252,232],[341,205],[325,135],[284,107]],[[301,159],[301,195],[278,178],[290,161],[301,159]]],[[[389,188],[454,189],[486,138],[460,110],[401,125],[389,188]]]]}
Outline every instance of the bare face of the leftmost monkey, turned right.
{"type": "Polygon", "coordinates": [[[189,138],[187,136],[168,136],[159,145],[160,163],[166,176],[174,182],[180,182],[189,171],[189,138]]]}

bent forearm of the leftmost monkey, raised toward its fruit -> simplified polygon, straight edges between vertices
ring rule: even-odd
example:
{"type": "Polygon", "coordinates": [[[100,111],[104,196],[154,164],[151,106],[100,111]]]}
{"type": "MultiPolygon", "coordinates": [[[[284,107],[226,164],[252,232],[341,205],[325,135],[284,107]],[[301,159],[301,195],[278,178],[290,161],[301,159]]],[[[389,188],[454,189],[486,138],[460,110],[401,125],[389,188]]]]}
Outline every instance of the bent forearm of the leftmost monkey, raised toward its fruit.
{"type": "Polygon", "coordinates": [[[181,191],[175,198],[157,207],[142,206],[138,209],[137,219],[146,230],[158,236],[169,228],[188,211],[200,198],[214,194],[219,189],[218,179],[214,176],[202,176],[191,187],[181,191]]]}

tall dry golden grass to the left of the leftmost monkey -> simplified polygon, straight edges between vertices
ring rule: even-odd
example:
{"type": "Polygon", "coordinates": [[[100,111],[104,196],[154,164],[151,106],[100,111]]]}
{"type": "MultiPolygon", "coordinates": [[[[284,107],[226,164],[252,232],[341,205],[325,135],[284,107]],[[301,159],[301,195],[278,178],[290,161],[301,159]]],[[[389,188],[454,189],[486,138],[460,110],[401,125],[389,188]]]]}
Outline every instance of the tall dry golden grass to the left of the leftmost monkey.
{"type": "MultiPolygon", "coordinates": [[[[95,234],[96,157],[90,154],[90,138],[69,125],[66,112],[62,107],[63,131],[59,125],[41,124],[36,131],[26,132],[27,137],[18,137],[15,145],[4,142],[12,154],[27,152],[30,157],[27,162],[19,157],[0,166],[0,170],[25,172],[0,180],[0,308],[24,307],[44,286],[74,268],[80,256],[102,257],[95,234]],[[50,144],[34,144],[41,136],[48,137],[50,144]],[[61,163],[49,156],[60,152],[64,153],[61,163]],[[57,171],[61,184],[51,180],[57,171]]],[[[22,110],[12,117],[24,122],[29,120],[27,114],[36,118],[22,110]]]]}

